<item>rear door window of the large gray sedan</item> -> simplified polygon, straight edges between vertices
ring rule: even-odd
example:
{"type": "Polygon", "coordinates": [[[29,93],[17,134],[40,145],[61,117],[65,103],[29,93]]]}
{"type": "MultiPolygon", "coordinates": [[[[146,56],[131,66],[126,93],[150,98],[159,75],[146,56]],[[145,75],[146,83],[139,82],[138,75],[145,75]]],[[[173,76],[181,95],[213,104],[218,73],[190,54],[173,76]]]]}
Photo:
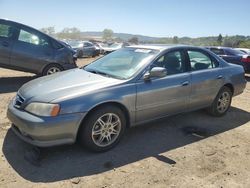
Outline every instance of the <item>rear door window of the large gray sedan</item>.
{"type": "Polygon", "coordinates": [[[188,51],[191,70],[203,70],[203,69],[211,69],[213,67],[217,67],[217,63],[213,63],[211,58],[205,55],[202,52],[198,51],[188,51]]]}

